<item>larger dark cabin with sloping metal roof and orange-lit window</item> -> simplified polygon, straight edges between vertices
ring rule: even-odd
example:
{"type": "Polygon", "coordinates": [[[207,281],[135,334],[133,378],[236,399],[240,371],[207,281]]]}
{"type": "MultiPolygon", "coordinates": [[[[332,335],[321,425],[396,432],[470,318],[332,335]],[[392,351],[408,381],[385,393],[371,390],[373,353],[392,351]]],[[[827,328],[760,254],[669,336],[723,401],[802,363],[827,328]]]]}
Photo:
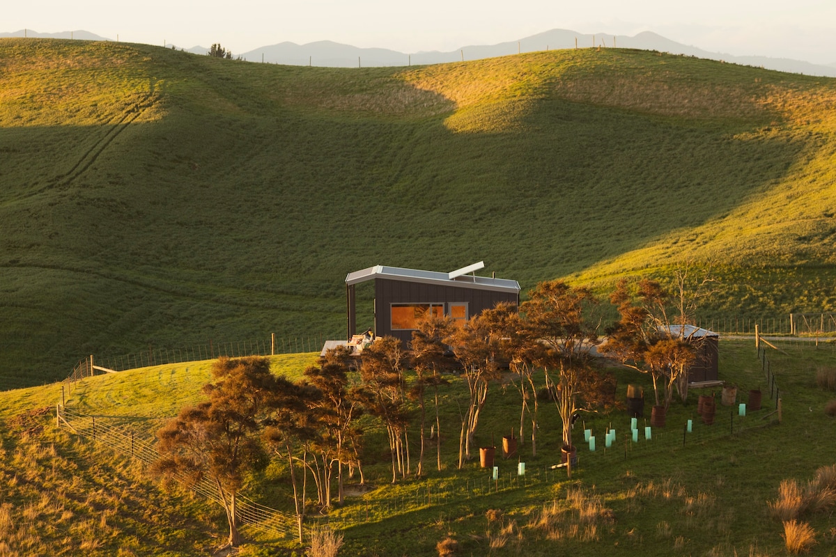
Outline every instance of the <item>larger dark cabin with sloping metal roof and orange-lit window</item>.
{"type": "Polygon", "coordinates": [[[415,323],[427,312],[463,323],[497,302],[519,304],[519,283],[476,276],[484,266],[480,261],[444,273],[378,265],[349,273],[345,277],[348,340],[357,333],[354,286],[360,282],[375,281],[375,336],[400,338],[405,345],[412,340],[415,323]]]}

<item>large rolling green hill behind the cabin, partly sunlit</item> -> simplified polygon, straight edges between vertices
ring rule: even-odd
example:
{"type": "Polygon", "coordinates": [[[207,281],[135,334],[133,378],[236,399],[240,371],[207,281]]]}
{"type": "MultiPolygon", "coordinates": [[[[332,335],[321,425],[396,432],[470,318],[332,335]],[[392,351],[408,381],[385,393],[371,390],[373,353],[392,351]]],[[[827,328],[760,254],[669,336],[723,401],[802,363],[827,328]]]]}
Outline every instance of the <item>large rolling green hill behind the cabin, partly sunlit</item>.
{"type": "Polygon", "coordinates": [[[484,260],[527,290],[711,260],[706,311],[836,306],[832,79],[619,49],[338,69],[44,39],[0,39],[0,72],[3,387],[90,353],[341,337],[344,277],[376,264],[484,260]]]}

